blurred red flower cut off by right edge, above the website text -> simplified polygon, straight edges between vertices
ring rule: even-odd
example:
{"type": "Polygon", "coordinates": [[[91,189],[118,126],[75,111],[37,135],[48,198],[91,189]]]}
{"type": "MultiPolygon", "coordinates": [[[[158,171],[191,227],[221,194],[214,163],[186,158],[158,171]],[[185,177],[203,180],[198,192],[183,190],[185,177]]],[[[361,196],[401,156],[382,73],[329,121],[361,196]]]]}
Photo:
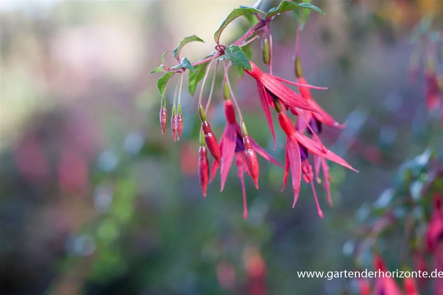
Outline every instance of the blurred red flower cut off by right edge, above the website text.
{"type": "Polygon", "coordinates": [[[434,195],[433,210],[426,231],[426,246],[433,253],[443,238],[442,196],[434,195]]]}

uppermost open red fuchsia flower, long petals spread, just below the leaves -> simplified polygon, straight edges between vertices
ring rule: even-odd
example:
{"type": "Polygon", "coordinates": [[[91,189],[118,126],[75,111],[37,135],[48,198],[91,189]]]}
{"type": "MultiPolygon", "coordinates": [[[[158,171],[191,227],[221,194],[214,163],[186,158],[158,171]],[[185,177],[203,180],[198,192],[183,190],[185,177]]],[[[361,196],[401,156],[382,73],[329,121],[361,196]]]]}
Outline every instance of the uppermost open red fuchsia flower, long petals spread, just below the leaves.
{"type": "Polygon", "coordinates": [[[309,104],[306,99],[301,97],[299,94],[295,93],[291,89],[289,89],[287,86],[285,86],[283,83],[296,85],[296,86],[303,86],[303,87],[309,87],[314,89],[326,89],[324,87],[315,87],[311,85],[301,85],[300,83],[290,82],[287,80],[284,80],[280,77],[267,74],[263,72],[261,69],[259,69],[253,62],[250,61],[251,64],[251,70],[245,69],[245,71],[256,80],[257,82],[257,90],[260,97],[260,102],[262,104],[263,110],[265,112],[266,121],[269,125],[269,129],[272,133],[272,138],[274,139],[274,148],[275,148],[275,134],[274,134],[274,125],[272,122],[272,116],[271,111],[269,109],[269,104],[271,106],[274,106],[273,104],[273,97],[277,97],[282,101],[282,103],[290,108],[290,109],[296,109],[301,108],[304,110],[308,110],[314,113],[319,113],[319,110],[316,109],[315,106],[312,104],[309,104]],[[283,82],[283,83],[282,83],[283,82]]]}

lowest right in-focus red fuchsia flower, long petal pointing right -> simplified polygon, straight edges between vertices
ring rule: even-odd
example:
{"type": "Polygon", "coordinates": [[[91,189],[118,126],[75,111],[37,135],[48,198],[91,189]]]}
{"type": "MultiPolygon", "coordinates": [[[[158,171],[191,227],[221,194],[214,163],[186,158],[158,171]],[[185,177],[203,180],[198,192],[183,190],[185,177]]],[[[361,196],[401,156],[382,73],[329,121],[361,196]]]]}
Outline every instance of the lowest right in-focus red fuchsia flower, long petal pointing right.
{"type": "MultiPolygon", "coordinates": [[[[286,165],[283,179],[283,189],[286,186],[287,175],[289,174],[289,168],[291,169],[292,176],[292,188],[294,190],[294,203],[292,207],[295,207],[297,199],[300,192],[300,182],[301,176],[303,175],[303,180],[306,183],[311,183],[312,191],[314,193],[314,198],[317,204],[317,210],[320,218],[323,218],[323,212],[320,209],[319,200],[317,199],[317,194],[314,188],[314,174],[312,172],[312,166],[307,161],[308,152],[311,154],[322,158],[323,160],[331,160],[337,164],[343,165],[346,168],[356,171],[351,167],[345,160],[337,156],[330,150],[326,149],[318,141],[314,141],[305,137],[300,132],[295,130],[292,125],[291,120],[282,110],[280,102],[278,100],[274,101],[275,109],[278,112],[278,119],[280,126],[282,127],[284,133],[286,134],[286,165]]],[[[329,168],[328,168],[329,169],[329,168]]],[[[324,169],[327,170],[327,169],[324,169]]]]}

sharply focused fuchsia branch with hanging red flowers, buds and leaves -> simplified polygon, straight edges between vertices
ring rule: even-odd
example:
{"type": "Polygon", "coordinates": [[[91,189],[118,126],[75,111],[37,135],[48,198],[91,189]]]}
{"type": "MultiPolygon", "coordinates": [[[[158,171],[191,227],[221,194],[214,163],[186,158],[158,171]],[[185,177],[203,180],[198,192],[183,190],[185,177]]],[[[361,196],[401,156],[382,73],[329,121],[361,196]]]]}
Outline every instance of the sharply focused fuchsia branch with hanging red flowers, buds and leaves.
{"type": "MultiPolygon", "coordinates": [[[[200,148],[198,156],[198,175],[203,195],[206,196],[207,185],[211,182],[217,170],[220,169],[221,191],[225,186],[227,176],[235,159],[235,166],[238,169],[238,177],[242,184],[243,203],[244,203],[244,218],[248,217],[246,190],[244,174],[249,175],[258,189],[259,178],[259,162],[257,154],[264,157],[267,161],[282,166],[276,159],[269,155],[262,147],[260,147],[249,135],[246,122],[243,120],[242,113],[235,98],[229,79],[229,69],[232,66],[238,66],[239,69],[246,72],[255,80],[257,86],[257,94],[265,113],[265,118],[270,129],[270,133],[274,139],[274,148],[276,146],[274,125],[272,121],[272,110],[277,113],[279,125],[286,135],[286,164],[284,168],[285,186],[289,171],[292,177],[292,188],[294,191],[295,206],[301,186],[301,179],[309,183],[312,187],[315,202],[317,204],[318,213],[323,217],[323,213],[319,206],[319,201],[314,188],[314,179],[321,183],[327,191],[329,204],[332,206],[332,199],[330,193],[331,175],[329,174],[329,166],[326,160],[336,162],[344,167],[354,170],[345,160],[328,150],[319,139],[319,135],[323,129],[323,125],[334,128],[343,128],[344,125],[335,121],[326,111],[324,111],[319,104],[313,99],[310,89],[326,89],[324,87],[315,87],[307,84],[301,74],[300,58],[297,55],[295,63],[295,72],[298,82],[291,82],[281,77],[272,74],[272,34],[270,30],[270,21],[280,13],[291,11],[295,9],[308,9],[319,11],[318,7],[307,3],[296,3],[294,1],[283,1],[278,7],[270,9],[267,13],[258,10],[255,7],[235,9],[222,23],[220,29],[215,33],[214,39],[216,42],[215,52],[210,54],[205,59],[191,63],[186,58],[180,58],[179,52],[181,48],[191,41],[202,41],[197,36],[190,36],[184,38],[178,47],[174,50],[174,56],[179,65],[169,68],[164,65],[164,56],[162,56],[162,65],[155,69],[156,71],[166,71],[166,73],[159,79],[159,89],[162,94],[160,107],[160,125],[162,134],[166,129],[167,111],[165,107],[165,87],[169,83],[172,76],[180,75],[179,82],[174,95],[173,117],[171,120],[171,128],[173,132],[173,139],[179,140],[183,130],[183,117],[180,104],[180,93],[183,82],[183,74],[186,69],[190,70],[189,87],[191,94],[194,93],[195,86],[202,79],[202,86],[200,88],[200,96],[197,103],[197,111],[201,120],[201,137],[200,148]],[[264,17],[261,15],[264,14],[264,17]],[[219,42],[220,34],[230,21],[241,15],[252,15],[255,17],[254,24],[241,38],[230,44],[229,46],[222,45],[219,42]],[[256,38],[262,38],[262,58],[264,64],[268,67],[269,72],[260,69],[255,63],[249,60],[246,48],[256,38]],[[242,49],[243,48],[243,49],[242,49]],[[211,66],[215,63],[213,71],[213,80],[208,97],[206,107],[203,107],[203,87],[207,80],[211,66]],[[211,129],[208,120],[208,107],[211,103],[213,90],[215,85],[215,78],[218,66],[222,64],[224,69],[224,112],[226,119],[225,130],[217,140],[217,137],[211,129]],[[300,94],[293,91],[285,84],[294,85],[299,88],[300,94]],[[178,95],[177,95],[178,93],[178,95]],[[178,104],[176,108],[176,97],[178,97],[178,104]],[[178,114],[177,114],[178,109],[178,114]],[[237,115],[238,120],[237,120],[237,115]],[[295,120],[294,120],[295,119],[295,120]],[[294,121],[293,121],[294,120],[294,121]],[[213,157],[214,161],[212,167],[208,161],[208,151],[213,157]],[[310,156],[312,158],[312,165],[309,162],[310,156]],[[323,179],[320,177],[320,172],[323,173],[323,179]]],[[[300,17],[301,19],[301,17],[300,17]]],[[[299,24],[299,28],[301,24],[299,24]]],[[[297,48],[298,36],[297,35],[297,48]]],[[[296,50],[298,52],[298,49],[296,50]]],[[[355,171],[355,170],[354,170],[355,171]]]]}

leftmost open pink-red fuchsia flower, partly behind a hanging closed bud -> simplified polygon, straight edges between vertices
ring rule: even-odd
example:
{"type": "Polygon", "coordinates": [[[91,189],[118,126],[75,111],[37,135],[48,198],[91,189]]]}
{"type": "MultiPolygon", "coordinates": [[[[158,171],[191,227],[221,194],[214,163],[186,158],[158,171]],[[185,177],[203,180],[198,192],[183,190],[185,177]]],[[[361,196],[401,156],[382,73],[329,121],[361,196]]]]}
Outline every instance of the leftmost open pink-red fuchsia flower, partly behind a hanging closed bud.
{"type": "MultiPolygon", "coordinates": [[[[221,151],[221,169],[220,169],[220,179],[221,179],[221,189],[223,191],[228,177],[230,167],[232,165],[232,160],[235,156],[235,165],[238,168],[238,177],[240,178],[242,184],[243,192],[243,215],[246,219],[248,217],[248,208],[246,203],[246,189],[245,182],[243,178],[243,173],[246,172],[251,176],[254,181],[255,187],[258,189],[258,162],[256,162],[257,156],[255,152],[260,156],[263,156],[269,162],[272,162],[278,166],[282,166],[275,158],[269,155],[262,147],[260,147],[254,140],[252,140],[246,133],[246,127],[242,130],[242,127],[238,124],[235,118],[235,110],[232,101],[228,98],[225,100],[225,118],[226,127],[223,135],[220,139],[220,151],[221,151]],[[255,156],[254,156],[255,155],[255,156]],[[249,162],[248,162],[249,158],[249,162]]],[[[243,123],[244,125],[244,123],[243,123]]],[[[211,180],[217,172],[217,165],[212,166],[211,170],[211,180]]]]}

